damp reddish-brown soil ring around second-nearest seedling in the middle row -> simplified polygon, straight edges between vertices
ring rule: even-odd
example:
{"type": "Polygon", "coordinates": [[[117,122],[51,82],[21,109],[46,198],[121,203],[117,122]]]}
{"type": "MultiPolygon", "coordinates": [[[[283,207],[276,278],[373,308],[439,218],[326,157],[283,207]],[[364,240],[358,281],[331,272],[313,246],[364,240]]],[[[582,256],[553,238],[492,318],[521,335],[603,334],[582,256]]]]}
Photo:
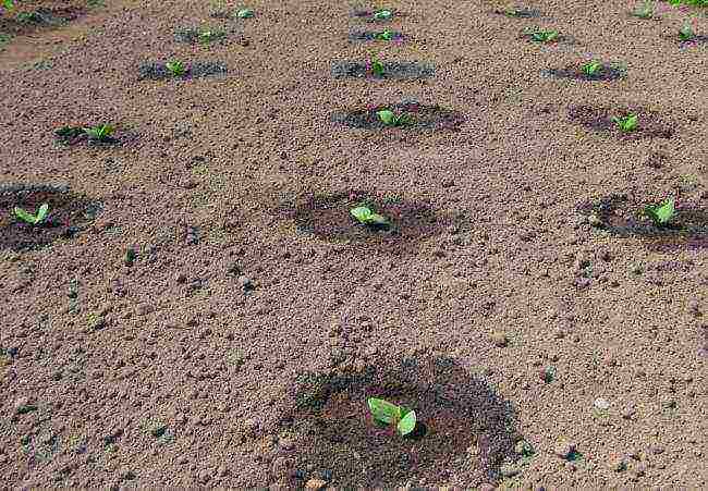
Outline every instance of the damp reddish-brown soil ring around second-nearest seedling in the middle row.
{"type": "Polygon", "coordinates": [[[408,246],[444,233],[454,221],[437,212],[428,201],[358,189],[305,193],[282,202],[277,211],[281,218],[293,220],[301,233],[393,254],[415,250],[408,246]],[[359,206],[387,217],[390,224],[368,226],[357,222],[351,210],[359,206]]]}

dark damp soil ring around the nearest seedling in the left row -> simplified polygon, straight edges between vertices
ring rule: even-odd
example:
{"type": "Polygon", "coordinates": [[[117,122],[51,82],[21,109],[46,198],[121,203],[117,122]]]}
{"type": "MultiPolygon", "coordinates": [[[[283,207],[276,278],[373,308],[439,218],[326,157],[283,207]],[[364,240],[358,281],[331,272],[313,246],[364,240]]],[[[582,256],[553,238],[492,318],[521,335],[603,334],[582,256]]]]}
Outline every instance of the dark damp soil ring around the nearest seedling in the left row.
{"type": "Polygon", "coordinates": [[[85,229],[100,209],[100,202],[71,193],[65,185],[2,185],[0,249],[30,250],[58,238],[70,238],[85,229]],[[35,213],[45,204],[49,213],[39,224],[26,223],[15,216],[15,207],[35,213]]]}

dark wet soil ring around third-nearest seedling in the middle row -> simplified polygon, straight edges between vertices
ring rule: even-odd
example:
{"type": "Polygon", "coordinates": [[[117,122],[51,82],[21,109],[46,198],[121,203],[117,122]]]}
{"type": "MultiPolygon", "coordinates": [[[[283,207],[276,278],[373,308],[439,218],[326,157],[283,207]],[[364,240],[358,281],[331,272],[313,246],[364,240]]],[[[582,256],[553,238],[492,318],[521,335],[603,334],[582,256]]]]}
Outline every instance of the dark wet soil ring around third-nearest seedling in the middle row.
{"type": "Polygon", "coordinates": [[[383,123],[378,115],[380,111],[384,110],[392,111],[396,115],[406,116],[405,124],[400,126],[404,130],[457,131],[465,122],[465,118],[461,112],[415,101],[339,111],[332,114],[332,121],[349,127],[384,130],[389,128],[390,125],[383,123]]]}

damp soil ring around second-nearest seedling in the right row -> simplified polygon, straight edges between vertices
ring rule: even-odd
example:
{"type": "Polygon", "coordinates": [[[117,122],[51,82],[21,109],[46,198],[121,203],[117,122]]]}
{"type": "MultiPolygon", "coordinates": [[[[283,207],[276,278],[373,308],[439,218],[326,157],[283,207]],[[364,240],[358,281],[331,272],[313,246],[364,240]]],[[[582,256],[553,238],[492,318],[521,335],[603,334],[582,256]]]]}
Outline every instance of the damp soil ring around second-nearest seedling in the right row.
{"type": "Polygon", "coordinates": [[[662,118],[661,113],[645,108],[606,108],[595,106],[573,106],[567,111],[571,121],[596,132],[610,132],[622,139],[671,138],[675,133],[675,122],[662,118]],[[627,114],[637,116],[637,127],[624,132],[618,127],[614,118],[627,114]]]}

